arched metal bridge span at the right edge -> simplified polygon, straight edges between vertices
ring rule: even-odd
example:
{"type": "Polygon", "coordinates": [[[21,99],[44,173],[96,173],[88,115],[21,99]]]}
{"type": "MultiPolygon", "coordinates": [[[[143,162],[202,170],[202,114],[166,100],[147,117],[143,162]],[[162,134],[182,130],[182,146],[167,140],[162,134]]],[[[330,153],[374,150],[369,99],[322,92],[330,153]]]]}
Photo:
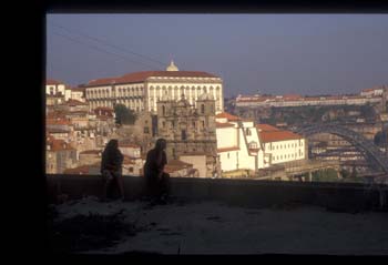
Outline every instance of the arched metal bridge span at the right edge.
{"type": "Polygon", "coordinates": [[[312,124],[297,130],[296,133],[302,134],[306,137],[318,133],[330,133],[338,135],[351,143],[357,150],[361,151],[367,161],[370,161],[372,164],[377,165],[375,167],[380,167],[384,172],[388,173],[388,159],[379,150],[379,147],[372,141],[366,139],[363,134],[344,128],[340,124],[312,124]]]}

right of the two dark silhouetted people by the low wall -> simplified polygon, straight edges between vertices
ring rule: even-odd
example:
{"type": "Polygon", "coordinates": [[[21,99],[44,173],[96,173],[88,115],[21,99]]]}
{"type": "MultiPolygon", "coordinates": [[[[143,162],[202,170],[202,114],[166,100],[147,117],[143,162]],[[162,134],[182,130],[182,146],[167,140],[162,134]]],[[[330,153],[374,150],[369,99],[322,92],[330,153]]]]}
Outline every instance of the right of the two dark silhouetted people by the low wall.
{"type": "Polygon", "coordinates": [[[159,139],[155,147],[146,154],[144,164],[146,194],[162,201],[170,194],[170,174],[164,172],[164,166],[167,164],[166,145],[164,139],[159,139]]]}

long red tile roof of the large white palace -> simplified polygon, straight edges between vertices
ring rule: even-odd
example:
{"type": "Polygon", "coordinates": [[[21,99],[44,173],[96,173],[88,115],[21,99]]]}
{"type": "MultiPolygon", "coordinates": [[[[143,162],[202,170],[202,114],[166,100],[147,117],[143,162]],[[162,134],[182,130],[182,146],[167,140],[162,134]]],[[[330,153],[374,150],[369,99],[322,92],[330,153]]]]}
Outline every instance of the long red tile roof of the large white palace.
{"type": "Polygon", "coordinates": [[[118,78],[105,78],[90,81],[85,86],[99,86],[106,84],[141,83],[151,77],[176,77],[176,78],[217,78],[214,74],[197,71],[144,71],[127,73],[118,78]]]}

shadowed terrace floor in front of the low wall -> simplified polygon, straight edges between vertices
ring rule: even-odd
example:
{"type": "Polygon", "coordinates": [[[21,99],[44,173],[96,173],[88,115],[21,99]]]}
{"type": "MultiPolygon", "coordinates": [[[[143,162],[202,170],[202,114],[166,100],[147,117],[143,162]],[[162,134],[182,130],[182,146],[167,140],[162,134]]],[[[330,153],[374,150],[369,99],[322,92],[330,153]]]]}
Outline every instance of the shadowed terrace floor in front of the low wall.
{"type": "MultiPolygon", "coordinates": [[[[324,207],[265,208],[218,202],[100,203],[94,197],[57,205],[55,222],[76,215],[112,215],[137,227],[109,247],[83,253],[388,255],[388,213],[335,213],[324,207]]],[[[81,224],[82,226],[82,224],[81,224]]],[[[81,227],[82,230],[82,227],[81,227]]]]}

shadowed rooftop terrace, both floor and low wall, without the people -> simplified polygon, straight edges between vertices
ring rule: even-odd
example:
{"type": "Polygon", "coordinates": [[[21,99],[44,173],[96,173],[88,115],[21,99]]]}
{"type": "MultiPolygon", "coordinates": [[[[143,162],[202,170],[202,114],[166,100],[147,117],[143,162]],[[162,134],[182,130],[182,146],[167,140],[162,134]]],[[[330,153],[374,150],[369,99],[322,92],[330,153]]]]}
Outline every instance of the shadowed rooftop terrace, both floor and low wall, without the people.
{"type": "Polygon", "coordinates": [[[86,247],[72,251],[388,254],[386,185],[172,179],[173,200],[165,205],[151,205],[140,200],[142,182],[142,177],[124,176],[126,201],[101,203],[96,197],[101,191],[99,176],[49,175],[51,202],[59,195],[68,197],[65,203],[53,206],[58,213],[54,223],[73,222],[72,226],[68,222],[64,230],[73,231],[73,236],[95,241],[95,234],[88,237],[93,225],[86,220],[100,222],[106,217],[113,222],[114,216],[120,216],[115,225],[99,224],[96,228],[102,234],[103,227],[118,227],[114,241],[86,243],[86,247]],[[80,216],[84,218],[80,221],[80,216]]]}

